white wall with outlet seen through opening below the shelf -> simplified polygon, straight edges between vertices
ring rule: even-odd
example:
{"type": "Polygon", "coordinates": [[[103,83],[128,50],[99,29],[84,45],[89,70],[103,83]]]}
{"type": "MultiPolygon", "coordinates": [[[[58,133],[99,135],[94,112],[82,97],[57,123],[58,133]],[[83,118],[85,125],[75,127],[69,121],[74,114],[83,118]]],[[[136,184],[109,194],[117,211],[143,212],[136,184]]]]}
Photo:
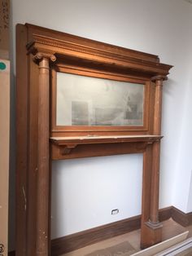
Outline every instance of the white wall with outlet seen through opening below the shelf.
{"type": "Polygon", "coordinates": [[[54,161],[52,177],[53,238],[141,213],[142,155],[54,161]]]}

